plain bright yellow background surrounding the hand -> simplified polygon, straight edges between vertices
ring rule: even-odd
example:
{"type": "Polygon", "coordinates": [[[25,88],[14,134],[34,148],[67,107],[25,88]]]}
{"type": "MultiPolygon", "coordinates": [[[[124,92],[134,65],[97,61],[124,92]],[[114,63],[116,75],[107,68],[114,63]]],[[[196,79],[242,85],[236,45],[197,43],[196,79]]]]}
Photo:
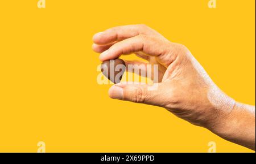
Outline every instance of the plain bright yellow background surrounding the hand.
{"type": "MultiPolygon", "coordinates": [[[[255,105],[255,1],[38,0],[0,5],[0,152],[253,152],[160,107],[110,100],[96,32],[143,23],[186,45],[215,83],[255,105]]],[[[135,57],[129,57],[135,58],[135,57]]]]}

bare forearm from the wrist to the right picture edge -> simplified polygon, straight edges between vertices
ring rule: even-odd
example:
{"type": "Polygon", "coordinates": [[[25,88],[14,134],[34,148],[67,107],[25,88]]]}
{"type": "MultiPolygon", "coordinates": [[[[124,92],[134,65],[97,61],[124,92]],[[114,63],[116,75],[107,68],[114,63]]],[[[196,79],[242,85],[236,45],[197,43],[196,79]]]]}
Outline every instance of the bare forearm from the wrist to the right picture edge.
{"type": "Polygon", "coordinates": [[[255,150],[255,106],[236,103],[232,112],[212,131],[233,143],[255,150]]]}

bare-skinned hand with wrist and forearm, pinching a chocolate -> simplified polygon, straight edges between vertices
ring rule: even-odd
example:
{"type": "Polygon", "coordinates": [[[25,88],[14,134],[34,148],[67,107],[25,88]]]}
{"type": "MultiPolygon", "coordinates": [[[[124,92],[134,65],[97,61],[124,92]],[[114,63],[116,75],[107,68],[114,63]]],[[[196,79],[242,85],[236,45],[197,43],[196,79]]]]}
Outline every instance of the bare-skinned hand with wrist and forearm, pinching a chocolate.
{"type": "Polygon", "coordinates": [[[181,119],[255,150],[255,106],[236,102],[222,92],[184,45],[168,41],[143,24],[110,28],[95,34],[93,42],[101,61],[136,54],[148,63],[126,64],[159,65],[158,89],[121,83],[109,89],[110,98],[164,107],[181,119]]]}

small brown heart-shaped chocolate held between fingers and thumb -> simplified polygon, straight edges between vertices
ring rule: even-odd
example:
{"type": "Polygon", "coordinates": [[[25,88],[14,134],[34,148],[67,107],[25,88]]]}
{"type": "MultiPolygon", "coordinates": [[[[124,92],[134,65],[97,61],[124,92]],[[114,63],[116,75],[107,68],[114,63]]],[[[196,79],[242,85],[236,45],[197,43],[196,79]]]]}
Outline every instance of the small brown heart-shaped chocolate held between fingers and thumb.
{"type": "Polygon", "coordinates": [[[125,62],[122,59],[104,61],[101,64],[101,72],[114,84],[120,83],[126,71],[125,62]]]}

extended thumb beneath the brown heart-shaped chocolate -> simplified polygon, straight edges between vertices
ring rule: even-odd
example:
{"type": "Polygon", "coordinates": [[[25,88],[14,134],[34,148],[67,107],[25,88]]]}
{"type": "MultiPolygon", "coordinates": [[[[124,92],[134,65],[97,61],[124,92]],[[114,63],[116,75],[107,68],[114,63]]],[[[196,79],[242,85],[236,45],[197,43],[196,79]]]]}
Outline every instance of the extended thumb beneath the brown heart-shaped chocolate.
{"type": "Polygon", "coordinates": [[[160,93],[159,84],[151,86],[120,83],[109,89],[110,98],[157,106],[162,102],[160,93]]]}

